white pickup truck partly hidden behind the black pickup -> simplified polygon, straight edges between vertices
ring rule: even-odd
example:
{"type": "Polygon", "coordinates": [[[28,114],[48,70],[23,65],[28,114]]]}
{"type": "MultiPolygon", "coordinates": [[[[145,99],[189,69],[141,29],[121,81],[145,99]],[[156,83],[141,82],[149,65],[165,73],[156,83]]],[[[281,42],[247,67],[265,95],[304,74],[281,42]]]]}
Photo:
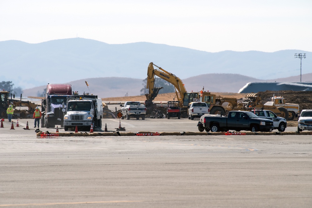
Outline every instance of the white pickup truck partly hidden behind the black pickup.
{"type": "Polygon", "coordinates": [[[252,110],[252,113],[256,114],[259,118],[266,118],[273,121],[274,129],[279,130],[280,132],[285,131],[287,127],[287,121],[285,118],[276,116],[275,113],[268,110],[252,110]]]}

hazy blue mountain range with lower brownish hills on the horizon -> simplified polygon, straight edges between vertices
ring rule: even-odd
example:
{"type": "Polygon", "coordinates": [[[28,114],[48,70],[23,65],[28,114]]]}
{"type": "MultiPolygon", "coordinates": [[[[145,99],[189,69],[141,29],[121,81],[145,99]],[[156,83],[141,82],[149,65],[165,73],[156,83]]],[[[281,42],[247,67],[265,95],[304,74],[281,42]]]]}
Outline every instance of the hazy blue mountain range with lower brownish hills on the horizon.
{"type": "Polygon", "coordinates": [[[88,91],[83,85],[89,80],[89,88],[101,86],[103,96],[138,95],[148,64],[154,62],[181,78],[187,90],[204,86],[210,91],[237,92],[251,81],[292,76],[300,81],[300,59],[294,58],[295,53],[306,53],[302,81],[311,81],[307,74],[312,72],[312,52],[300,50],[210,53],[147,42],[107,44],[71,38],[29,44],[8,40],[0,41],[0,81],[12,81],[24,94],[35,87],[42,91],[47,83],[74,83],[75,89],[88,91]]]}

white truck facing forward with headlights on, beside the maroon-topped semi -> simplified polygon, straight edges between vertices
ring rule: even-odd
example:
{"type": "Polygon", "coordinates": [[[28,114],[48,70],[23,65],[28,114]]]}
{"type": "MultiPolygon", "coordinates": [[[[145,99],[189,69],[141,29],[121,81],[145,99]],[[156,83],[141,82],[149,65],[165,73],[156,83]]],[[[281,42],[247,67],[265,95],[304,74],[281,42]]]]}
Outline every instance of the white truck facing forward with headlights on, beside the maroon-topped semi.
{"type": "Polygon", "coordinates": [[[102,99],[97,95],[77,95],[68,98],[64,110],[64,130],[69,128],[93,128],[102,127],[103,105],[102,99]]]}

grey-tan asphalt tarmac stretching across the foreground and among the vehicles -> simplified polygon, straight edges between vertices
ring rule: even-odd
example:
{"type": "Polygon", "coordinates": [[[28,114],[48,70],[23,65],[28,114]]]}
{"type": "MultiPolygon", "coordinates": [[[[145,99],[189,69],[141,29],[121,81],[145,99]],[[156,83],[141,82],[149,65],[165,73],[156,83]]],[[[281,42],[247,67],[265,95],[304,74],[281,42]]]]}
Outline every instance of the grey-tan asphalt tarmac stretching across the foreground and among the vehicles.
{"type": "MultiPolygon", "coordinates": [[[[312,206],[311,135],[40,138],[33,121],[0,128],[0,207],[312,206]]],[[[132,132],[198,132],[197,122],[120,120],[132,132]]]]}

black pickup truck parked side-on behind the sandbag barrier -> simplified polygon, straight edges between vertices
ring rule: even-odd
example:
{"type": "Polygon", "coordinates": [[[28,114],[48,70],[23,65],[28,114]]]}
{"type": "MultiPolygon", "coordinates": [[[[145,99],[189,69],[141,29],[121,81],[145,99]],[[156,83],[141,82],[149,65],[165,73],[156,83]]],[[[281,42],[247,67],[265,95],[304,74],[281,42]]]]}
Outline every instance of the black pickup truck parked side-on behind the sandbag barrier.
{"type": "Polygon", "coordinates": [[[200,118],[197,124],[199,131],[228,131],[228,130],[247,130],[247,131],[272,131],[274,129],[273,121],[259,118],[248,111],[230,111],[227,117],[207,116],[200,118]]]}

